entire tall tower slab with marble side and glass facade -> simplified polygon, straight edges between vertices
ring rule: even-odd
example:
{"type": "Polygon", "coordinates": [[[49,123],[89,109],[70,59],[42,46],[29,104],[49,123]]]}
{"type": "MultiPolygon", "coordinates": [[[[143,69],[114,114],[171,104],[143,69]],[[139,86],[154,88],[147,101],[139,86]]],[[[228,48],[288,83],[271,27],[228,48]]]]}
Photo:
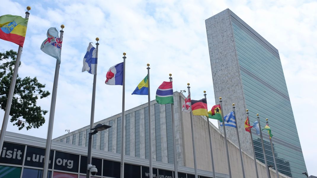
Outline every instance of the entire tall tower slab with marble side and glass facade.
{"type": "MultiPolygon", "coordinates": [[[[262,128],[269,119],[279,172],[305,177],[301,173],[307,169],[278,50],[230,9],[205,22],[215,100],[218,103],[222,96],[223,113],[232,111],[232,103],[236,104],[242,149],[253,155],[249,132],[243,128],[249,109],[251,123],[257,113],[262,128]]],[[[226,132],[237,143],[235,128],[226,127],[226,132]]],[[[268,164],[274,165],[268,134],[263,134],[268,164]]],[[[264,163],[261,140],[255,133],[253,141],[256,159],[264,163]]]]}

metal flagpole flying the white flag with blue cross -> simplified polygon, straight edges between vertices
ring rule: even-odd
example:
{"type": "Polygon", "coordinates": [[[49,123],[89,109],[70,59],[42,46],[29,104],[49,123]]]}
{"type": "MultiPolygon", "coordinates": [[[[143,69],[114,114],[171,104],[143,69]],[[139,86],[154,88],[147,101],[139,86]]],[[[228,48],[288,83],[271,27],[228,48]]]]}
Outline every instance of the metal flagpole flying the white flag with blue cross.
{"type": "MultiPolygon", "coordinates": [[[[96,49],[97,49],[96,57],[98,59],[98,46],[99,46],[98,41],[99,41],[99,38],[96,38],[96,41],[97,41],[97,43],[96,43],[96,49]]],[[[97,80],[97,71],[96,71],[96,74],[94,74],[93,96],[92,96],[92,99],[91,99],[90,129],[94,128],[96,80],[97,80]]],[[[89,137],[88,137],[87,168],[88,168],[88,164],[91,164],[91,150],[93,149],[93,144],[91,143],[92,142],[92,138],[91,137],[92,137],[92,135],[89,134],[89,137]]],[[[88,169],[86,169],[86,178],[90,178],[90,171],[88,169]]]]}

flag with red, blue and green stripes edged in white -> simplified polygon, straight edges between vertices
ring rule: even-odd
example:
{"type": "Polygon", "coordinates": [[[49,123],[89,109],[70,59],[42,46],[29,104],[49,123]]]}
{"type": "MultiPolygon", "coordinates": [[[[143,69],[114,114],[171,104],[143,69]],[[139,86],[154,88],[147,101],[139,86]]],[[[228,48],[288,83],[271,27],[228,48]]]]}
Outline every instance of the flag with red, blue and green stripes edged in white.
{"type": "Polygon", "coordinates": [[[174,103],[173,82],[163,82],[156,90],[156,102],[159,104],[174,103]]]}

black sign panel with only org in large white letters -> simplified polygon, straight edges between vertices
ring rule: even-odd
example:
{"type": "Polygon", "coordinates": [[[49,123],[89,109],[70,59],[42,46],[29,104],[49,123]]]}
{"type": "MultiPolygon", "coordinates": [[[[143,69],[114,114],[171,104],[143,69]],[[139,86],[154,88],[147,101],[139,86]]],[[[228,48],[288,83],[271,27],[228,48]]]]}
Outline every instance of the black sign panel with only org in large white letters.
{"type": "Polygon", "coordinates": [[[79,155],[55,151],[54,169],[78,172],[79,155]]]}

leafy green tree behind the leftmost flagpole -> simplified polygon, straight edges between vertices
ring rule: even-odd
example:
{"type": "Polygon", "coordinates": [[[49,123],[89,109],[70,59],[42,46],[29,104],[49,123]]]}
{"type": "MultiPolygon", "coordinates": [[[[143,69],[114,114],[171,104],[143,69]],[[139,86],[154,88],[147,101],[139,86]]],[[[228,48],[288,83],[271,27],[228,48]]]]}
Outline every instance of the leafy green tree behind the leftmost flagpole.
{"type": "MultiPolygon", "coordinates": [[[[16,52],[13,50],[0,52],[0,108],[5,110],[10,90],[11,79],[16,62],[16,52]]],[[[19,67],[21,62],[19,64],[19,67]]],[[[45,84],[39,83],[30,77],[17,77],[14,90],[10,122],[19,130],[24,127],[39,128],[45,123],[44,115],[48,112],[36,105],[38,97],[45,98],[50,95],[49,91],[43,90],[45,84]]]]}

